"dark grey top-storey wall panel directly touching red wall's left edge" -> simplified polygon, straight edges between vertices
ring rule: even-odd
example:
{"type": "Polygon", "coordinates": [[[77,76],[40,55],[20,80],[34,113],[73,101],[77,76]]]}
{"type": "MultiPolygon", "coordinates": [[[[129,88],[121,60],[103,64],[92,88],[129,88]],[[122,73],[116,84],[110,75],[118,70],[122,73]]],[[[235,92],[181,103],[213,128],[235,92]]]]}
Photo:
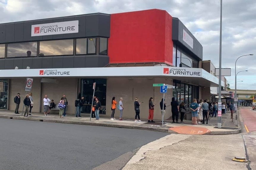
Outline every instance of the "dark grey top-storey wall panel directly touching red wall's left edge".
{"type": "Polygon", "coordinates": [[[99,36],[110,37],[110,16],[99,15],[99,36]]]}

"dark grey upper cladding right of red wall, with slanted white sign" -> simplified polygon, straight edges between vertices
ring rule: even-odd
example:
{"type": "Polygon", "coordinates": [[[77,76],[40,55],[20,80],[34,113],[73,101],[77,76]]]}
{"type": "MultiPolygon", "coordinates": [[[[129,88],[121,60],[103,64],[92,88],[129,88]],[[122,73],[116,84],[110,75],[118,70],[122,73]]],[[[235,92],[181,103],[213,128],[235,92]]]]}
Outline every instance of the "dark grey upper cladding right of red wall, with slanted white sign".
{"type": "Polygon", "coordinates": [[[187,27],[178,19],[173,18],[173,29],[172,29],[172,39],[181,48],[186,49],[186,52],[191,53],[193,57],[198,60],[203,60],[203,46],[199,43],[199,41],[194,37],[194,35],[187,29],[187,27]],[[185,41],[183,41],[183,30],[187,32],[187,34],[193,38],[193,48],[191,48],[185,41]]]}

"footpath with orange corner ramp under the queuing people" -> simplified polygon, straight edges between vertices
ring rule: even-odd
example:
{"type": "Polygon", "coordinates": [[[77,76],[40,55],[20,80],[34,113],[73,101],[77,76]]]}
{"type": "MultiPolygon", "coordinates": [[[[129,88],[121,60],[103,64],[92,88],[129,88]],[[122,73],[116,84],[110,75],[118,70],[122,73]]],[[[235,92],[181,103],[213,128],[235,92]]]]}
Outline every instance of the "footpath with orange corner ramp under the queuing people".
{"type": "MultiPolygon", "coordinates": [[[[155,123],[148,123],[147,120],[141,120],[142,122],[134,122],[134,119],[123,118],[123,121],[116,119],[110,120],[110,117],[100,115],[100,120],[95,120],[88,115],[81,114],[82,117],[75,117],[74,114],[67,114],[66,117],[60,118],[59,114],[49,114],[44,116],[43,113],[32,113],[30,117],[21,116],[21,114],[14,114],[13,111],[0,111],[0,118],[4,119],[19,119],[19,120],[31,120],[39,122],[52,122],[52,123],[66,123],[66,124],[79,124],[90,126],[102,126],[102,127],[117,127],[127,129],[140,129],[157,132],[167,133],[179,133],[189,135],[227,135],[236,134],[241,132],[239,115],[234,114],[234,119],[230,119],[230,111],[225,115],[222,115],[222,128],[217,128],[217,117],[210,117],[208,124],[192,125],[192,121],[184,120],[184,124],[172,123],[172,120],[164,120],[165,124],[162,127],[161,120],[154,120],[155,123]],[[239,123],[238,123],[239,122],[239,123]]],[[[240,116],[241,117],[241,116],[240,116]]],[[[117,117],[116,117],[117,118],[117,117]]]]}

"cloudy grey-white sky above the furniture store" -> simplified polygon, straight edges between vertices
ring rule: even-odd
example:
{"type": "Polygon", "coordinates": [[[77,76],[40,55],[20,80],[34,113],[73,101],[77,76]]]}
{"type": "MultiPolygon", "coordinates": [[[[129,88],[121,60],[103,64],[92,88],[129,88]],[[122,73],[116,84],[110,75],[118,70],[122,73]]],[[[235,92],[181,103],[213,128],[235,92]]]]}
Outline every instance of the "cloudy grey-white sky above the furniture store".
{"type": "MultiPolygon", "coordinates": [[[[237,89],[256,90],[256,0],[223,0],[222,68],[237,89]]],[[[203,60],[219,68],[220,0],[0,0],[0,23],[102,12],[107,14],[163,9],[178,17],[203,45],[203,60]]]]}

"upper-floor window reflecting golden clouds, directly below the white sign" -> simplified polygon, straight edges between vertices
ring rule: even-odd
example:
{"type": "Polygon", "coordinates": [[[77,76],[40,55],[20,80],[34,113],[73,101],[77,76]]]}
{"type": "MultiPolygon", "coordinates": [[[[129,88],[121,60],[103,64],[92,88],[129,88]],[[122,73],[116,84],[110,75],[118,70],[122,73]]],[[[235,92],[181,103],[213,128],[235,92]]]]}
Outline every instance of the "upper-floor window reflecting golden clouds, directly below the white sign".
{"type": "Polygon", "coordinates": [[[40,41],[39,56],[73,55],[74,40],[40,41]]]}

